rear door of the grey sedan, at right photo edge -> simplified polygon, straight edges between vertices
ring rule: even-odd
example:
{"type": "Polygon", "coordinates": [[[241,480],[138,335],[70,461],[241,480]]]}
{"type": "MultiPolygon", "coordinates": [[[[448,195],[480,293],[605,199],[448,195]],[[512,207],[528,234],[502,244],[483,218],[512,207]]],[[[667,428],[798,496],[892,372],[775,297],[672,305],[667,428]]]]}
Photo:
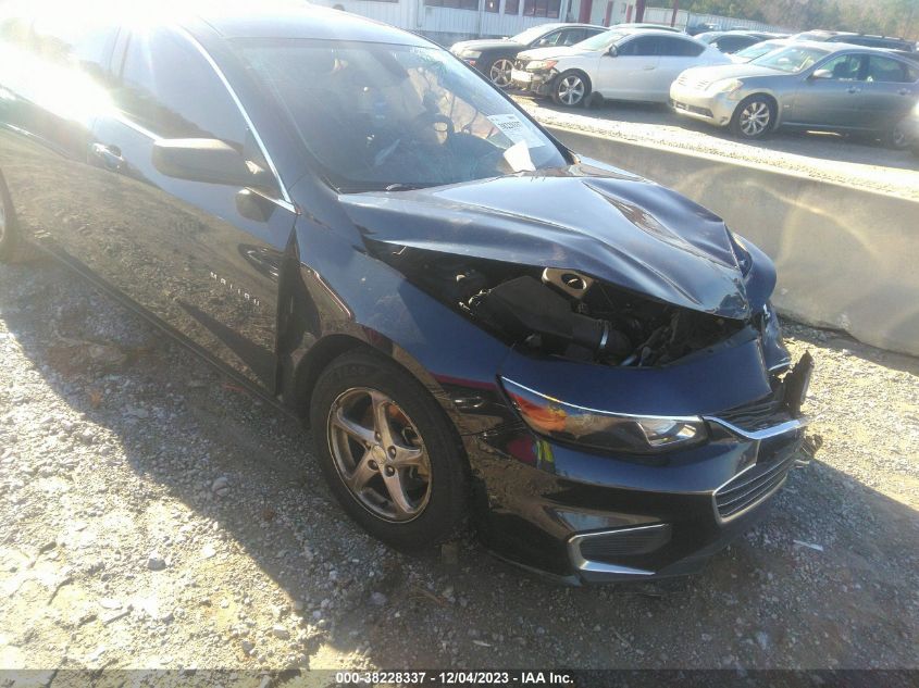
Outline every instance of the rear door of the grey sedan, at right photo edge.
{"type": "Polygon", "coordinates": [[[864,108],[867,126],[890,132],[919,99],[919,64],[884,55],[868,57],[864,108]]]}

